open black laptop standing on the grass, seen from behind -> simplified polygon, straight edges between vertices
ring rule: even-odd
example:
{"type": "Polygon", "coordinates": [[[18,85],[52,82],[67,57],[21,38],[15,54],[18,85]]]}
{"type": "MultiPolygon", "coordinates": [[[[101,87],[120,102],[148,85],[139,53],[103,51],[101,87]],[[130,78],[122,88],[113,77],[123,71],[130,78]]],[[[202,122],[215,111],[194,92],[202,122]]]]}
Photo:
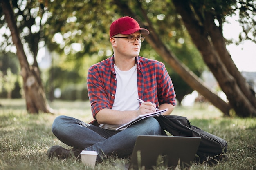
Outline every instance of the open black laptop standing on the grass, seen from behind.
{"type": "Polygon", "coordinates": [[[161,165],[190,167],[200,140],[200,137],[139,135],[128,169],[153,169],[161,165]]]}

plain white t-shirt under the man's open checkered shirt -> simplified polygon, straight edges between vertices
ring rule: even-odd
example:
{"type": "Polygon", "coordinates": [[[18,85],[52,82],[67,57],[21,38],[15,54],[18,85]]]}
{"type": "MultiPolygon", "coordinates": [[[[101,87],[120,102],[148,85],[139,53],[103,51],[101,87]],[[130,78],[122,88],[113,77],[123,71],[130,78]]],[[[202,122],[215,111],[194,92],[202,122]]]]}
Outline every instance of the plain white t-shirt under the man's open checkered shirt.
{"type": "MultiPolygon", "coordinates": [[[[135,64],[128,71],[121,71],[114,64],[116,78],[117,78],[117,89],[115,94],[115,100],[112,110],[138,110],[139,102],[138,85],[137,85],[137,65],[135,64]]],[[[101,128],[115,130],[121,125],[108,125],[101,124],[101,128]]]]}

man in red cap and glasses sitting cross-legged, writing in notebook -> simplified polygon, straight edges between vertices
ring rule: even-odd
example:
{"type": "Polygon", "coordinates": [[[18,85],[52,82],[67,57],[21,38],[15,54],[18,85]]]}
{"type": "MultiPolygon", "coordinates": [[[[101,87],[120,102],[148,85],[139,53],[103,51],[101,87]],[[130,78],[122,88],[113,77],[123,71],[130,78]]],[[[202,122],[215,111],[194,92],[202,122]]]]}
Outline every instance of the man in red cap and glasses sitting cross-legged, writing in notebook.
{"type": "Polygon", "coordinates": [[[175,105],[175,92],[162,62],[139,56],[141,43],[149,31],[137,21],[121,17],[110,26],[110,42],[114,55],[89,68],[87,85],[94,123],[88,124],[73,117],[58,116],[52,132],[67,150],[52,146],[47,155],[65,159],[79,156],[81,150],[98,152],[97,161],[116,154],[125,157],[132,153],[138,135],[161,135],[156,119],[148,117],[128,128],[116,130],[139,115],[153,113],[156,108],[169,115],[175,105]],[[143,99],[140,103],[137,98],[143,99]]]}

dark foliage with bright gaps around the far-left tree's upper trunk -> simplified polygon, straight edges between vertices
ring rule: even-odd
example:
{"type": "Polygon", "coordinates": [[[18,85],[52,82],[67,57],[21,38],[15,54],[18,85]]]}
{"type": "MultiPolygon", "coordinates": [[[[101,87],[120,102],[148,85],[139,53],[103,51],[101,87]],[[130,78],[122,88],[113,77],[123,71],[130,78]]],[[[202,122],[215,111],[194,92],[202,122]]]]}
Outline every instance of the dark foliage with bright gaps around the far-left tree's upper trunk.
{"type": "MultiPolygon", "coordinates": [[[[42,47],[44,45],[44,21],[42,20],[45,13],[44,7],[39,1],[30,0],[13,0],[11,1],[11,5],[18,29],[20,30],[20,39],[27,56],[34,61],[34,66],[38,66],[38,63],[36,62],[38,47],[42,47]]],[[[4,16],[2,9],[0,9],[0,15],[4,16]]],[[[0,23],[2,25],[2,30],[4,30],[2,36],[6,39],[6,41],[0,42],[1,51],[4,53],[8,51],[16,52],[16,49],[13,48],[11,32],[7,27],[4,17],[0,19],[0,23]]]]}

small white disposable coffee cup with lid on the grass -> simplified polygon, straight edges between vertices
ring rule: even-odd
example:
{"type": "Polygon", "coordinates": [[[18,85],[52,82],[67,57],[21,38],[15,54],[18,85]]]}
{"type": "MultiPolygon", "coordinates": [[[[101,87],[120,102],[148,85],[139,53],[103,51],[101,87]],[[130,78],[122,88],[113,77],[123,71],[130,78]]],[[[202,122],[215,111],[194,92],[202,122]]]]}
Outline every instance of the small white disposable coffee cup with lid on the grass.
{"type": "Polygon", "coordinates": [[[96,163],[96,157],[98,155],[95,151],[83,150],[81,153],[81,160],[85,166],[94,167],[96,163]]]}

